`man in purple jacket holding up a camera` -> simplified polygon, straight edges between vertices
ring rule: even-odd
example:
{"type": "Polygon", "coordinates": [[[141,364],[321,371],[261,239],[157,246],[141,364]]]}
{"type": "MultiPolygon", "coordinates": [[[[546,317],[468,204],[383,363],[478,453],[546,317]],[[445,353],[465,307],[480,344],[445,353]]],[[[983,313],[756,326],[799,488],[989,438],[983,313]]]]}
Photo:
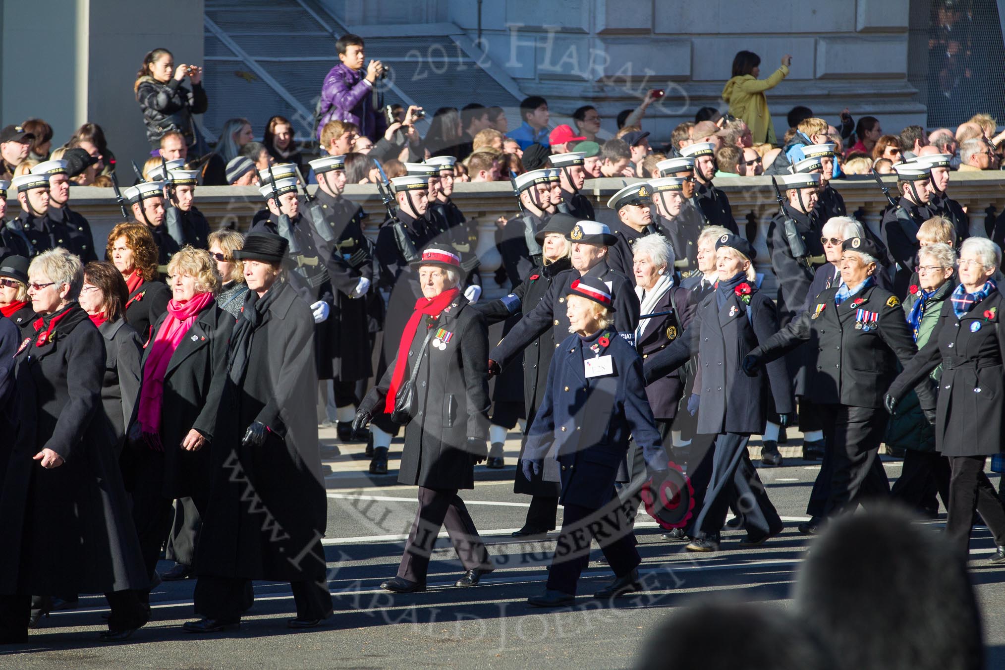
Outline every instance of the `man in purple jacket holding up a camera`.
{"type": "Polygon", "coordinates": [[[390,68],[379,60],[366,62],[363,38],[359,35],[343,35],[335,46],[342,62],[325,76],[316,109],[318,138],[321,139],[328,122],[344,121],[355,124],[360,135],[376,143],[387,130],[387,122],[380,113],[381,95],[375,83],[378,78],[384,78],[390,68]]]}

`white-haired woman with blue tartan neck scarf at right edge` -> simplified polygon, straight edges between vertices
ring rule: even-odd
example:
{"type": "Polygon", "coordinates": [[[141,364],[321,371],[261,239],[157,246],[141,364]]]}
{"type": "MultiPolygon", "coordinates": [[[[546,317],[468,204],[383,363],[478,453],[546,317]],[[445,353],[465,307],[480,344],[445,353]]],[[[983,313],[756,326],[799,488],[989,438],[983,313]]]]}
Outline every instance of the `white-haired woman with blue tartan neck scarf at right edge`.
{"type": "MultiPolygon", "coordinates": [[[[936,450],[949,457],[952,472],[946,534],[966,559],[976,510],[997,546],[991,563],[1005,563],[1005,503],[984,474],[987,457],[1002,450],[1005,431],[1005,298],[993,279],[1000,265],[1001,249],[994,242],[964,241],[960,284],[943,303],[928,344],[904,363],[884,399],[892,413],[911,388],[942,364],[935,426],[936,450]]],[[[924,400],[922,408],[927,409],[924,400]]]]}

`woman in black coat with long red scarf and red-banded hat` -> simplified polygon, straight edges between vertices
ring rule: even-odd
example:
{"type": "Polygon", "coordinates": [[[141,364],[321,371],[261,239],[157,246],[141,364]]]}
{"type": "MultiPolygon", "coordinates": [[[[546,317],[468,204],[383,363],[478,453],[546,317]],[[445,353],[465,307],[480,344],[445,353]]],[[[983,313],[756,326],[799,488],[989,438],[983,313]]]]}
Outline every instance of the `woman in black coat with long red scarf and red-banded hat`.
{"type": "Polygon", "coordinates": [[[363,428],[381,412],[410,419],[398,481],[418,484],[419,509],[397,577],[381,584],[395,593],[425,591],[430,553],[443,525],[466,571],[456,586],[473,587],[492,571],[457,495],[458,489],[474,488],[473,466],[488,453],[485,318],[460,293],[460,256],[452,246],[430,244],[412,265],[422,297],[405,325],[394,364],[367,394],[353,422],[354,430],[363,428]]]}

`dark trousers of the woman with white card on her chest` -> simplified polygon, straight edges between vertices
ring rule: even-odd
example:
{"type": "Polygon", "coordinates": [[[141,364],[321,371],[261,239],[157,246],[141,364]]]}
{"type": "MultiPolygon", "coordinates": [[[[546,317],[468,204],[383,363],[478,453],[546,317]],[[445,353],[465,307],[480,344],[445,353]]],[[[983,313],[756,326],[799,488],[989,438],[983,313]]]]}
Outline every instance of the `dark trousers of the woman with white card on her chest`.
{"type": "Polygon", "coordinates": [[[562,532],[555,545],[552,567],[548,571],[548,588],[576,595],[576,584],[590,564],[590,541],[597,540],[607,564],[617,577],[630,573],[642,563],[635,548],[635,533],[622,522],[602,522],[598,519],[624,519],[620,501],[613,496],[601,509],[567,504],[562,516],[562,532]]]}

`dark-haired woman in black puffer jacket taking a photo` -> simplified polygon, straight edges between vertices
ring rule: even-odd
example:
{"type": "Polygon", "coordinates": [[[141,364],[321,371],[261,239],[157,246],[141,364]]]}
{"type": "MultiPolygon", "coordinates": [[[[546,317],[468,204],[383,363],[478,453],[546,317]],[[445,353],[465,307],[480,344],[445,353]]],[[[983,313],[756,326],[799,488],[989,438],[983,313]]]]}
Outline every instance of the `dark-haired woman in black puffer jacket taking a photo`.
{"type": "Polygon", "coordinates": [[[136,100],[147,126],[147,140],[153,149],[160,149],[161,138],[177,131],[185,138],[189,160],[205,153],[204,143],[196,130],[192,115],[203,114],[209,107],[206,90],[202,87],[202,68],[181,63],[167,49],[154,49],[143,58],[133,84],[136,100]],[[192,89],[182,82],[191,80],[192,89]]]}

